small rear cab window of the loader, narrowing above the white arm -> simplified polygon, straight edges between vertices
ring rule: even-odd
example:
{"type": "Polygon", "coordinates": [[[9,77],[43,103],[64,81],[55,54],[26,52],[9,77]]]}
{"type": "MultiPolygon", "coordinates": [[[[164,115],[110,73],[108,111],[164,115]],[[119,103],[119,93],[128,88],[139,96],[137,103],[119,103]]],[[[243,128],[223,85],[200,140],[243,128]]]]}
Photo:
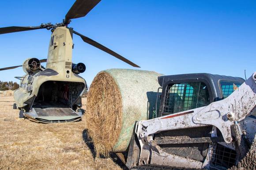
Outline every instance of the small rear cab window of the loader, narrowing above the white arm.
{"type": "Polygon", "coordinates": [[[231,81],[220,81],[220,87],[222,90],[223,99],[227,98],[234,90],[240,87],[242,83],[240,82],[231,82],[231,81]]]}

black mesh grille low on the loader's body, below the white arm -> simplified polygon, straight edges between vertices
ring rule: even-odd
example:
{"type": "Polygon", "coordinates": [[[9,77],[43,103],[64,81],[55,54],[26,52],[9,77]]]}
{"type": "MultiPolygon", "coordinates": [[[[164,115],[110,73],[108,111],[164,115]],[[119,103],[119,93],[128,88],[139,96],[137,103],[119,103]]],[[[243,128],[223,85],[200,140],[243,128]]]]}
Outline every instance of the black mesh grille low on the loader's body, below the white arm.
{"type": "Polygon", "coordinates": [[[227,169],[236,163],[237,152],[216,144],[211,150],[211,166],[218,166],[220,169],[227,169]]]}

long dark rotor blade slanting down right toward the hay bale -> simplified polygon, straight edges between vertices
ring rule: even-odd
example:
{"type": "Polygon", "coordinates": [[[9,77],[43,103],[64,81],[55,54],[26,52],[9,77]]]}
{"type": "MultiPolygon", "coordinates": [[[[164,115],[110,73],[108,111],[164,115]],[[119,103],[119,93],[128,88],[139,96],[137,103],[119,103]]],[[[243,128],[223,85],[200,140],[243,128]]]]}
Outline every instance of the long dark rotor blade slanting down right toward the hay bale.
{"type": "Polygon", "coordinates": [[[132,61],[124,58],[123,56],[117,54],[116,52],[110,50],[109,48],[103,46],[102,44],[97,43],[96,41],[88,38],[87,36],[84,36],[84,35],[82,35],[80,33],[77,33],[76,31],[73,31],[73,33],[78,35],[78,36],[80,36],[84,42],[89,43],[90,45],[92,45],[92,46],[94,46],[94,47],[96,47],[96,48],[98,48],[98,49],[100,49],[102,51],[105,51],[106,53],[109,53],[110,55],[113,55],[114,57],[116,57],[116,58],[126,62],[127,64],[132,65],[133,67],[140,67],[139,65],[136,65],[132,61]]]}

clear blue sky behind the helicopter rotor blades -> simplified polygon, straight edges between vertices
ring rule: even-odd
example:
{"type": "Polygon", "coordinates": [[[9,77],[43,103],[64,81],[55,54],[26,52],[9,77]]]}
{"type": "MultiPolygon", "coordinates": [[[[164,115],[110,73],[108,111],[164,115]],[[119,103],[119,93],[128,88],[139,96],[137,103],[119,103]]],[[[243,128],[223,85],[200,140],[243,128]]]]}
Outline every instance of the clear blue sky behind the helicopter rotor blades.
{"type": "MultiPolygon", "coordinates": [[[[61,22],[75,0],[0,1],[0,27],[61,22]]],[[[102,0],[69,25],[143,70],[165,75],[207,72],[244,78],[256,71],[256,0],[102,0]]],[[[46,29],[0,35],[0,68],[46,58],[46,29]]],[[[74,36],[73,62],[90,85],[101,70],[133,67],[74,36]]],[[[23,70],[0,72],[17,81],[23,70]]]]}

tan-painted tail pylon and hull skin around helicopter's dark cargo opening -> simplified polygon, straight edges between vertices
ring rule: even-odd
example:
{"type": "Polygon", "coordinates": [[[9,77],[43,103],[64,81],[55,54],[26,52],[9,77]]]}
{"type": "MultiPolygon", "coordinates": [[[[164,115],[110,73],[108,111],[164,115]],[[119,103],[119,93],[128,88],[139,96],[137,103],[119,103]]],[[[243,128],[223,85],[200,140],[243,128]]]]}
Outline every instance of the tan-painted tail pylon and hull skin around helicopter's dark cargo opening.
{"type": "MultiPolygon", "coordinates": [[[[21,87],[15,90],[14,99],[17,107],[22,109],[29,104],[28,101],[38,96],[38,91],[42,83],[46,81],[65,81],[79,82],[87,87],[86,81],[79,75],[72,72],[72,36],[70,30],[65,26],[53,29],[49,42],[48,58],[45,70],[51,70],[53,73],[40,75],[38,73],[29,75],[26,71],[27,61],[23,63],[23,70],[26,72],[24,79],[21,80],[21,87]],[[39,76],[38,76],[39,75],[39,76]]],[[[82,96],[83,92],[80,96],[82,96]]]]}

